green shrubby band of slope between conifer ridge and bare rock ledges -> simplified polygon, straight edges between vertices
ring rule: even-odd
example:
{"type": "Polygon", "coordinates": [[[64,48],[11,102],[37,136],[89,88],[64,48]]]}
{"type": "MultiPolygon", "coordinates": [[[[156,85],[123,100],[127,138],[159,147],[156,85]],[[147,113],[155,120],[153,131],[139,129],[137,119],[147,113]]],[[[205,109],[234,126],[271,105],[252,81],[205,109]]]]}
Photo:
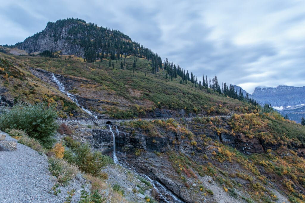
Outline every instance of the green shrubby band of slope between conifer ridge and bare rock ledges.
{"type": "MultiPolygon", "coordinates": [[[[7,56],[9,57],[9,56],[7,56]]],[[[165,79],[165,72],[160,70],[156,75],[151,74],[151,64],[146,59],[137,58],[136,68],[132,64],[134,57],[127,57],[124,70],[120,63],[124,58],[111,62],[114,68],[108,67],[109,60],[86,63],[77,60],[51,59],[44,57],[15,56],[27,66],[41,68],[65,76],[82,77],[115,91],[127,100],[136,99],[152,101],[156,107],[181,110],[202,114],[230,114],[230,112],[249,112],[254,108],[246,103],[224,97],[218,93],[208,94],[206,90],[193,87],[194,84],[179,84],[180,77],[173,81],[165,79]],[[145,76],[146,75],[146,76],[145,76]],[[136,90],[140,94],[135,97],[129,94],[136,90]]]]}

